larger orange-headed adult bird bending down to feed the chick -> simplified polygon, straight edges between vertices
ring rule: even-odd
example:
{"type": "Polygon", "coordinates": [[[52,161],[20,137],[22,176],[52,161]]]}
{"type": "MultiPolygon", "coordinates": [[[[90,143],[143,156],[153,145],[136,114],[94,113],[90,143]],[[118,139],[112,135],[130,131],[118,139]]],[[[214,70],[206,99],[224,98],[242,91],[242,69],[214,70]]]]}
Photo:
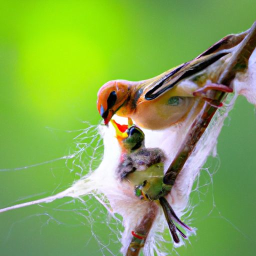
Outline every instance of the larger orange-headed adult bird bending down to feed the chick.
{"type": "Polygon", "coordinates": [[[108,124],[113,114],[131,117],[140,127],[163,129],[181,121],[194,105],[206,100],[219,107],[217,91],[232,92],[217,84],[218,77],[247,34],[222,38],[195,59],[142,81],[112,80],[98,91],[97,109],[108,124]]]}

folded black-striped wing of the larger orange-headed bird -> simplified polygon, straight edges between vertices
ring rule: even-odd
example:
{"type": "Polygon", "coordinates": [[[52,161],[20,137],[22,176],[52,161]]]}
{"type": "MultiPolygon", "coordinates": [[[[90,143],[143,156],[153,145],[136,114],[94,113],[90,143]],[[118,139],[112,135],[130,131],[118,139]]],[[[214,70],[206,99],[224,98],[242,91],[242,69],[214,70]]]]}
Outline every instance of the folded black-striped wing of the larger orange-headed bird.
{"type": "Polygon", "coordinates": [[[146,100],[154,99],[166,90],[171,89],[180,80],[203,70],[227,53],[231,52],[231,48],[240,43],[247,33],[248,31],[240,34],[227,35],[193,60],[185,62],[176,68],[165,72],[163,75],[157,76],[156,79],[143,91],[144,98],[146,100]]]}

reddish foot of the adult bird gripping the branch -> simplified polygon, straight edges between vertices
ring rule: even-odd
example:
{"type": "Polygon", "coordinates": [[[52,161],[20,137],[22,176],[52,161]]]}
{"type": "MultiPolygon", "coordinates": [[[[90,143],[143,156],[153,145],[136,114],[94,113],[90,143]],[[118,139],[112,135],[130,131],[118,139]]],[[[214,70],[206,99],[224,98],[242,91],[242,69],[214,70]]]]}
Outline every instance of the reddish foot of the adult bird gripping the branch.
{"type": "Polygon", "coordinates": [[[216,91],[233,92],[233,89],[223,84],[209,83],[195,90],[193,92],[193,96],[202,97],[211,106],[220,107],[222,106],[222,103],[216,100],[216,96],[215,96],[216,91]]]}

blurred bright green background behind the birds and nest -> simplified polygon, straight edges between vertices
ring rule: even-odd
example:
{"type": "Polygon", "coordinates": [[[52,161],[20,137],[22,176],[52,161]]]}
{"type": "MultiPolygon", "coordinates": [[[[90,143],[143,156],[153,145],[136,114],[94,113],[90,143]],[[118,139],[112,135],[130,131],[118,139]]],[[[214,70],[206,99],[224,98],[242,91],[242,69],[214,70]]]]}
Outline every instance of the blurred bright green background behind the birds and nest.
{"type": "MultiPolygon", "coordinates": [[[[155,76],[255,19],[255,0],[1,1],[0,168],[68,154],[79,131],[66,130],[100,120],[96,92],[104,82],[155,76]]],[[[238,98],[225,124],[219,158],[205,165],[212,173],[220,159],[213,185],[191,196],[199,203],[191,215],[197,235],[179,255],[255,255],[253,106],[238,98]]],[[[61,191],[78,177],[64,160],[1,171],[0,207],[61,191]]],[[[202,171],[200,183],[209,181],[202,171]]],[[[0,255],[118,254],[115,225],[105,224],[110,220],[95,199],[84,199],[88,211],[61,199],[1,213],[0,255]],[[81,215],[89,212],[101,245],[81,215]]]]}

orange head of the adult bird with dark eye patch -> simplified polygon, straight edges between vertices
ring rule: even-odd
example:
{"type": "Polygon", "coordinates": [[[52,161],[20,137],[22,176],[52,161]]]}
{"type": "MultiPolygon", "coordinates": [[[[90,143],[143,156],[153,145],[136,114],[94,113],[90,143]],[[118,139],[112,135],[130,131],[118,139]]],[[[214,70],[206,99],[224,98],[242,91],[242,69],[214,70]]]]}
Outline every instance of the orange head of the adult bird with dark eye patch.
{"type": "Polygon", "coordinates": [[[129,96],[130,81],[113,80],[106,82],[98,91],[97,109],[104,123],[108,124],[114,113],[129,96]]]}

